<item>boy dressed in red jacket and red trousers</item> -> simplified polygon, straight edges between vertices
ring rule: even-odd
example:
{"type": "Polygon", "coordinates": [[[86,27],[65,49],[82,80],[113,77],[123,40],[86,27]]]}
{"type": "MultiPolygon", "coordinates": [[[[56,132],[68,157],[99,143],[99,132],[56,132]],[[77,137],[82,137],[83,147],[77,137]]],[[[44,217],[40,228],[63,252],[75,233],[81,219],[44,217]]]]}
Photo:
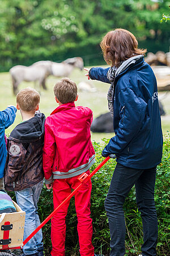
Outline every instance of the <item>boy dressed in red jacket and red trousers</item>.
{"type": "MultiPolygon", "coordinates": [[[[95,151],[91,143],[90,126],[92,110],[75,107],[78,99],[75,82],[62,79],[54,86],[58,108],[45,121],[43,168],[45,184],[53,187],[54,209],[70,195],[71,189],[80,184],[78,177],[95,163],[95,151]]],[[[75,194],[78,217],[78,235],[81,256],[94,256],[92,246],[92,219],[90,217],[91,180],[83,183],[75,194]]],[[[53,256],[65,255],[65,217],[69,202],[52,218],[53,256]]]]}

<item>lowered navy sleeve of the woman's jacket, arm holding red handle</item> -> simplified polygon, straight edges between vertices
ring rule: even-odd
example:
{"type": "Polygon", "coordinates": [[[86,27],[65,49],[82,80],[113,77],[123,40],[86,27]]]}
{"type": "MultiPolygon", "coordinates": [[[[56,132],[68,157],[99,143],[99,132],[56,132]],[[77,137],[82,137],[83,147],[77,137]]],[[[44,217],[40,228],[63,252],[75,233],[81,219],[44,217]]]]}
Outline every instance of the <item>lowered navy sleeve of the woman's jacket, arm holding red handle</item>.
{"type": "Polygon", "coordinates": [[[117,134],[110,139],[103,150],[103,156],[120,154],[131,139],[135,137],[145,119],[147,104],[130,88],[122,89],[118,94],[121,104],[120,122],[117,134]]]}

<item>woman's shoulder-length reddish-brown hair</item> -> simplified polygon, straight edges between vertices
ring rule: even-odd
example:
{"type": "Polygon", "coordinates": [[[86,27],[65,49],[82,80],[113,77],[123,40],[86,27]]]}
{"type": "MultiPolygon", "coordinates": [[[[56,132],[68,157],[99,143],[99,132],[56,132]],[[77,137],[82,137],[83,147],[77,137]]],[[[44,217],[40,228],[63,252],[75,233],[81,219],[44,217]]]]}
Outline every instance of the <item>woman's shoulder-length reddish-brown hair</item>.
{"type": "Polygon", "coordinates": [[[146,49],[138,48],[138,41],[128,30],[117,28],[109,31],[100,43],[103,56],[107,64],[121,64],[121,61],[128,60],[130,57],[145,55],[146,49]]]}

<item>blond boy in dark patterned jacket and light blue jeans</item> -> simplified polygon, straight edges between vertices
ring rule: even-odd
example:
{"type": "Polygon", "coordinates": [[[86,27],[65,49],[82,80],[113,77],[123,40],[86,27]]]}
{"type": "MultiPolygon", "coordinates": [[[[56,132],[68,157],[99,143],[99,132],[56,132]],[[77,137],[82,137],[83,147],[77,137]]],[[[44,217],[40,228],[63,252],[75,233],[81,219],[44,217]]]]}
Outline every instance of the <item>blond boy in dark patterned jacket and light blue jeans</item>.
{"type": "MultiPolygon", "coordinates": [[[[20,208],[25,211],[24,240],[40,225],[37,213],[44,172],[42,170],[42,146],[44,144],[45,115],[39,110],[40,94],[32,88],[20,90],[16,96],[16,108],[23,122],[8,137],[8,156],[5,168],[5,188],[15,191],[20,208]]],[[[23,247],[23,254],[43,255],[40,230],[23,247]]]]}

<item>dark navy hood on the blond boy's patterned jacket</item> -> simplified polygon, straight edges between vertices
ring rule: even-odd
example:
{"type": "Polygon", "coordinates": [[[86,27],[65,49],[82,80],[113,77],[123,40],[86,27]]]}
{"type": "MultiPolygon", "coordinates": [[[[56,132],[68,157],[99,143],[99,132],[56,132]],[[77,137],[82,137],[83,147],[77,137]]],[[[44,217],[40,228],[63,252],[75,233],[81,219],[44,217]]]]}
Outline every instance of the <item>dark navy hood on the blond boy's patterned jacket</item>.
{"type": "Polygon", "coordinates": [[[44,136],[44,124],[45,124],[45,115],[43,113],[36,114],[35,117],[19,123],[12,130],[9,139],[12,141],[20,142],[33,142],[40,139],[41,136],[44,136]]]}

